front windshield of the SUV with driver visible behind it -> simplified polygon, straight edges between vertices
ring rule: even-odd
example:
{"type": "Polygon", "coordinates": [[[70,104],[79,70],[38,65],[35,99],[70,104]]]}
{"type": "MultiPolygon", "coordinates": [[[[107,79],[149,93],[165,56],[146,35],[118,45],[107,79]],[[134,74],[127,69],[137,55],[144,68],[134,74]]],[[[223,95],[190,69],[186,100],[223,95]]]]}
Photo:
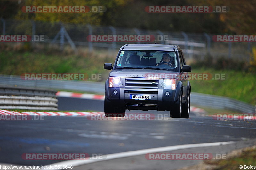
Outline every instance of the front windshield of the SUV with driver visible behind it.
{"type": "Polygon", "coordinates": [[[163,69],[177,72],[177,57],[174,51],[121,51],[116,69],[140,68],[163,69]]]}

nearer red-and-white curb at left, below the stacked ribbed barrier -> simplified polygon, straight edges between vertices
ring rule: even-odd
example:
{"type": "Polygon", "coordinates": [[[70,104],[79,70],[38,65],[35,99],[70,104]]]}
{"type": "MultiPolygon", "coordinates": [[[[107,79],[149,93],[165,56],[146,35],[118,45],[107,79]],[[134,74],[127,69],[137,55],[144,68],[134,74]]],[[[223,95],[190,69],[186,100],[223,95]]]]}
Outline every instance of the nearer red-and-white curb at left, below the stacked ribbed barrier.
{"type": "Polygon", "coordinates": [[[104,112],[15,112],[0,110],[0,115],[40,115],[40,116],[103,116],[104,112]]]}

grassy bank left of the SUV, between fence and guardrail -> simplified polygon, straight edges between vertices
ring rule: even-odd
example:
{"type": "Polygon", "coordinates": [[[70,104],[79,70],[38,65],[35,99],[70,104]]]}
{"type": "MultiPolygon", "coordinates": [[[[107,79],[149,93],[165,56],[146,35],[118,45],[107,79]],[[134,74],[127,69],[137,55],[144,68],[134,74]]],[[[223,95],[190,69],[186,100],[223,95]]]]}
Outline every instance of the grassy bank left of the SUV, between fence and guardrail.
{"type": "Polygon", "coordinates": [[[109,71],[103,64],[113,62],[108,53],[81,52],[78,54],[44,51],[0,51],[0,74],[21,75],[23,73],[83,73],[87,80],[92,74],[102,74],[104,82],[109,71]]]}

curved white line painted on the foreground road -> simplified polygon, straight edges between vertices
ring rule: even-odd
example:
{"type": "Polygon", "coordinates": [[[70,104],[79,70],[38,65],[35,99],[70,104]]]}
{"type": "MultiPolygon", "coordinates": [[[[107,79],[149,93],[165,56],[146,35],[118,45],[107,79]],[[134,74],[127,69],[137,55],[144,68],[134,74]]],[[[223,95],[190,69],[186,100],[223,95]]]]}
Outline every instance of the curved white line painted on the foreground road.
{"type": "MultiPolygon", "coordinates": [[[[142,149],[142,150],[137,150],[137,151],[128,151],[128,152],[121,152],[121,153],[113,153],[113,154],[107,154],[103,155],[104,158],[106,159],[91,159],[88,158],[86,160],[67,160],[67,161],[62,161],[50,165],[45,165],[45,166],[69,166],[72,165],[73,167],[75,166],[81,166],[85,164],[90,164],[94,162],[99,162],[99,161],[104,161],[104,160],[111,160],[111,159],[117,159],[117,158],[125,158],[125,157],[131,157],[131,156],[138,156],[138,155],[144,155],[147,153],[156,153],[156,152],[166,152],[166,151],[174,151],[178,149],[188,149],[188,148],[199,148],[199,147],[208,147],[208,146],[220,146],[220,145],[228,145],[228,144],[233,144],[235,143],[234,141],[229,141],[229,142],[213,142],[213,143],[198,143],[198,144],[185,144],[185,145],[176,145],[176,146],[166,146],[166,147],[159,147],[159,148],[150,148],[150,149],[142,149]]],[[[55,170],[59,168],[54,168],[55,170]]],[[[48,169],[50,170],[50,169],[48,169]]],[[[51,169],[52,170],[52,169],[51,169]]]]}

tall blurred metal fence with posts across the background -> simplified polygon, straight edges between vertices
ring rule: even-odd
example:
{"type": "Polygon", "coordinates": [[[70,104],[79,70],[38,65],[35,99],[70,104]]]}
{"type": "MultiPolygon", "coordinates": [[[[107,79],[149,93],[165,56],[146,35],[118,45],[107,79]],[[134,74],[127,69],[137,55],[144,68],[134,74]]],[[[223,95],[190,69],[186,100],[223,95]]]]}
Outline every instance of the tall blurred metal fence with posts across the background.
{"type": "Polygon", "coordinates": [[[122,45],[126,44],[126,42],[88,42],[86,39],[88,35],[154,35],[154,37],[165,35],[168,37],[167,41],[156,41],[156,43],[180,45],[187,55],[186,57],[198,59],[203,59],[207,54],[210,54],[213,57],[248,60],[252,46],[256,45],[255,42],[214,42],[212,41],[213,34],[206,33],[170,32],[10,19],[1,19],[0,34],[46,35],[49,38],[46,43],[58,44],[60,45],[60,49],[63,49],[65,45],[70,45],[74,51],[79,46],[86,47],[90,51],[99,48],[116,51],[122,45]]]}

